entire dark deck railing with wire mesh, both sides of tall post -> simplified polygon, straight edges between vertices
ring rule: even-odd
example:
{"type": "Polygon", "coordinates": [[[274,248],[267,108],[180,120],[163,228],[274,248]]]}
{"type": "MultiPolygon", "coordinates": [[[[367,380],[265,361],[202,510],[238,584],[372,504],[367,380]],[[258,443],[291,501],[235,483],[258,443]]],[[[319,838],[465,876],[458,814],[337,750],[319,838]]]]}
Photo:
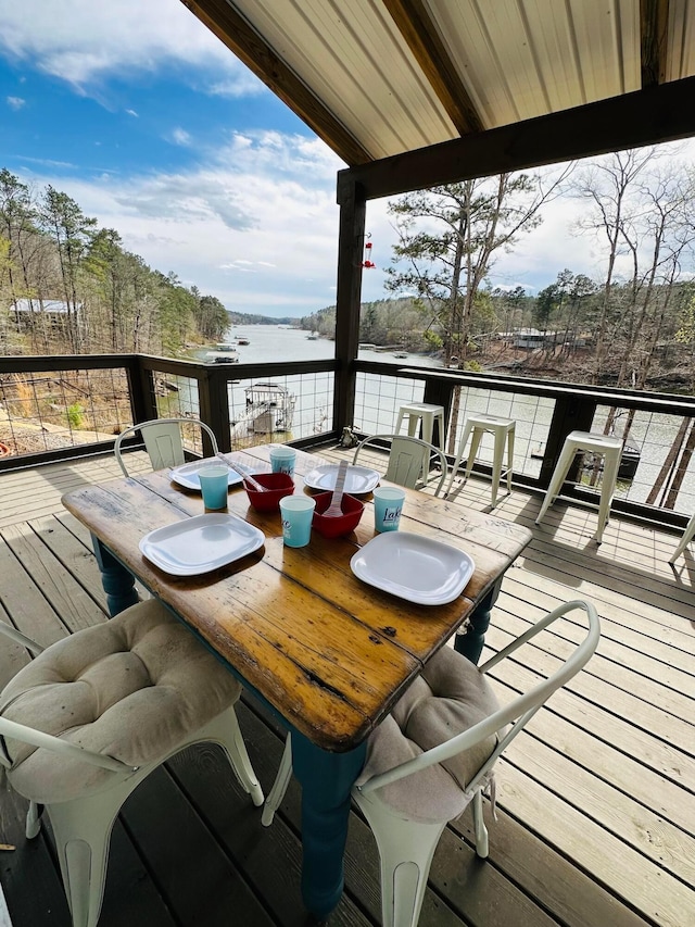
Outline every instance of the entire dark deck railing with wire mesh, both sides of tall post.
{"type": "MultiPolygon", "coordinates": [[[[0,358],[0,444],[18,451],[0,455],[0,471],[102,453],[127,425],[175,414],[206,422],[223,450],[265,442],[268,435],[254,431],[248,415],[247,388],[262,381],[293,397],[291,429],[274,439],[300,447],[334,439],[344,425],[362,435],[392,431],[401,404],[424,401],[444,406],[451,460],[467,413],[514,418],[514,478],[539,490],[547,488],[569,431],[603,431],[610,413],[622,437],[630,417],[628,443],[636,450],[637,464],[630,478],[619,480],[614,508],[677,527],[695,510],[695,464],[690,465],[687,443],[672,453],[677,436],[684,436],[683,426],[695,417],[693,397],[355,361],[352,421],[337,422],[337,367],[332,360],[202,364],[139,354],[0,358]]],[[[490,456],[484,439],[481,455],[490,456]]],[[[484,463],[476,468],[490,472],[484,463]]],[[[568,496],[595,502],[599,480],[599,469],[587,469],[568,496]]]]}

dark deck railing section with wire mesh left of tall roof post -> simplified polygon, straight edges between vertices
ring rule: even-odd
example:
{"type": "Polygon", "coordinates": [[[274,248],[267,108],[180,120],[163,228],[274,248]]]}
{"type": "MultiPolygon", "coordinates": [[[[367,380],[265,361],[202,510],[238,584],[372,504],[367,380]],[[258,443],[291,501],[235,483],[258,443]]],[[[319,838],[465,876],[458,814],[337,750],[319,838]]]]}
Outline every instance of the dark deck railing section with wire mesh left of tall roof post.
{"type": "Polygon", "coordinates": [[[0,358],[0,444],[10,451],[0,454],[0,471],[103,453],[128,425],[174,415],[202,418],[225,451],[260,443],[268,437],[254,431],[247,392],[260,381],[291,397],[290,430],[277,401],[268,400],[266,418],[274,431],[282,428],[275,440],[312,443],[333,428],[334,366],[332,360],[241,365],[140,354],[0,358]]]}

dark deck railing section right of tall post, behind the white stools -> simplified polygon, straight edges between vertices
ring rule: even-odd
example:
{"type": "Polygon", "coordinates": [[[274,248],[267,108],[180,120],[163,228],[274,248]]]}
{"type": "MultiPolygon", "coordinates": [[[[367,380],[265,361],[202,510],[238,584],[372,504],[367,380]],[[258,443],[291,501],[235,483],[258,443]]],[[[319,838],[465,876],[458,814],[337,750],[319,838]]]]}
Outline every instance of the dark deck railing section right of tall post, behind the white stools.
{"type": "MultiPolygon", "coordinates": [[[[451,459],[458,449],[467,414],[485,412],[514,418],[514,479],[529,488],[547,489],[570,431],[603,433],[610,414],[615,434],[622,437],[630,417],[627,444],[636,451],[636,469],[629,478],[619,479],[616,511],[677,527],[683,527],[695,511],[695,460],[691,461],[685,442],[670,461],[677,436],[686,433],[682,425],[695,417],[694,397],[431,367],[394,369],[392,364],[362,361],[355,367],[353,424],[357,431],[391,430],[403,402],[443,405],[447,423],[445,449],[451,459]],[[680,474],[679,467],[683,469],[680,474]],[[661,480],[660,476],[665,478],[661,480]],[[679,483],[680,489],[670,491],[679,483]],[[655,491],[655,486],[660,488],[655,491]]],[[[492,459],[492,436],[483,438],[481,456],[485,455],[492,459]]],[[[626,464],[630,456],[628,453],[623,458],[626,464]]],[[[490,473],[492,467],[477,464],[475,469],[490,473]]],[[[579,466],[570,473],[572,478],[578,469],[579,466]]],[[[577,489],[568,488],[567,496],[578,502],[595,503],[599,480],[601,472],[587,467],[581,484],[577,489]]]]}

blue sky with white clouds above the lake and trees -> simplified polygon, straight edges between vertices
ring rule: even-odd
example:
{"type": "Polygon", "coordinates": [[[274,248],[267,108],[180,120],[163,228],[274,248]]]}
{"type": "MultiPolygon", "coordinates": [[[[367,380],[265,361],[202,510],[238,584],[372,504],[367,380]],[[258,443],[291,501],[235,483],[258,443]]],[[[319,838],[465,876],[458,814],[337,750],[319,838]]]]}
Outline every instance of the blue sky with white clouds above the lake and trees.
{"type": "MultiPolygon", "coordinates": [[[[0,167],[73,197],[153,268],[227,309],[305,315],[336,299],[344,166],[179,0],[0,7],[0,167]]],[[[381,299],[395,239],[369,203],[381,299]]],[[[533,292],[599,254],[556,201],[492,276],[533,292]]]]}

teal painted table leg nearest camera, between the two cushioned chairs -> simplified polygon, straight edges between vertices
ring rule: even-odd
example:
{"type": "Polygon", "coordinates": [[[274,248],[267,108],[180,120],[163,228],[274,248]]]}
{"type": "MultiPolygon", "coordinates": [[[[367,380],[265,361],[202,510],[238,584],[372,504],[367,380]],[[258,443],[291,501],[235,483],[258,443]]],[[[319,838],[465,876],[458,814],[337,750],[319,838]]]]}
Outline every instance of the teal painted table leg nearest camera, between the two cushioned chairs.
{"type": "Polygon", "coordinates": [[[302,898],[325,919],[343,891],[350,791],[365,764],[366,743],[328,753],[292,731],[292,771],[302,785],[302,898]]]}

